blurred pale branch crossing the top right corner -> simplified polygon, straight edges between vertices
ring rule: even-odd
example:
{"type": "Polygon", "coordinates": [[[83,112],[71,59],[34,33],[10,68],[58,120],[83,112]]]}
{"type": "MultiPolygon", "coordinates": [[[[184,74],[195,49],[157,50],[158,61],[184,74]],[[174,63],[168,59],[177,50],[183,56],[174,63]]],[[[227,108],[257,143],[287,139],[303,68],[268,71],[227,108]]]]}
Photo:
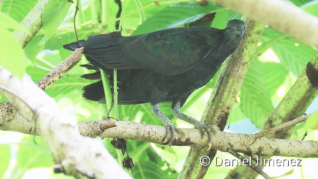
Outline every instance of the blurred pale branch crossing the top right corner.
{"type": "Polygon", "coordinates": [[[288,0],[210,0],[318,48],[318,18],[288,0]]]}

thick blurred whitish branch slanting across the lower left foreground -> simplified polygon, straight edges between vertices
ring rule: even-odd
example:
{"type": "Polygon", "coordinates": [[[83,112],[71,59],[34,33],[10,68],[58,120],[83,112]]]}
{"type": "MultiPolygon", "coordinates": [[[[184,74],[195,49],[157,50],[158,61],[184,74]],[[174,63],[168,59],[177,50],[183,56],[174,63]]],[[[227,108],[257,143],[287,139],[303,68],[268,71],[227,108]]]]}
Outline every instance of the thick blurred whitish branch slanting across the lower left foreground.
{"type": "Polygon", "coordinates": [[[100,140],[81,136],[75,116],[60,111],[55,100],[30,77],[24,76],[21,82],[3,68],[0,77],[0,92],[47,142],[55,163],[62,166],[60,170],[65,174],[76,178],[86,178],[88,174],[96,179],[130,178],[100,140]]]}

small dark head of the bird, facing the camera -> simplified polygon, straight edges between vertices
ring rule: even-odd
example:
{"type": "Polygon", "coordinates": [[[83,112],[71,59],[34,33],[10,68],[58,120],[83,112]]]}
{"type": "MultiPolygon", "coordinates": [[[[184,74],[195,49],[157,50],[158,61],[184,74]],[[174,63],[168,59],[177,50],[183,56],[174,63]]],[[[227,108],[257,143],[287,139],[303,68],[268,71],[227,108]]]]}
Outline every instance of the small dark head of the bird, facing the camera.
{"type": "Polygon", "coordinates": [[[225,29],[225,33],[230,38],[240,37],[242,38],[244,35],[245,23],[239,19],[233,19],[228,22],[227,28],[225,29]]]}

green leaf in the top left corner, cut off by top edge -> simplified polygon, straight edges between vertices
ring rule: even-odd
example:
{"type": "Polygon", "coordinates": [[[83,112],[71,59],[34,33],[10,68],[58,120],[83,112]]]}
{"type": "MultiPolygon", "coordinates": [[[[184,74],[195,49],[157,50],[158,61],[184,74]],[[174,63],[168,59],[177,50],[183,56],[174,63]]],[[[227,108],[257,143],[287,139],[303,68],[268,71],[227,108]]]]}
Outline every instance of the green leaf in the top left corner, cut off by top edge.
{"type": "MultiPolygon", "coordinates": [[[[21,21],[38,0],[4,0],[2,12],[21,21]]],[[[2,20],[2,19],[1,19],[2,20]]]]}

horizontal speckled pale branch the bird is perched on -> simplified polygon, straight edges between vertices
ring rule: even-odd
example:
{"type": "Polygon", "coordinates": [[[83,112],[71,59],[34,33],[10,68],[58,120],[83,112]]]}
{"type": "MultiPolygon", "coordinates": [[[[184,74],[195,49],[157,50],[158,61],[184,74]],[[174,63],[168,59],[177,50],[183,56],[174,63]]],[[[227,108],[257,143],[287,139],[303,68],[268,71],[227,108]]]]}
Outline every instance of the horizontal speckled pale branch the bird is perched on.
{"type": "MultiPolygon", "coordinates": [[[[1,108],[0,108],[1,109],[1,108]]],[[[16,112],[16,111],[15,111],[16,112]]],[[[11,128],[11,131],[24,132],[26,134],[36,135],[37,131],[32,128],[23,128],[28,122],[24,118],[15,118],[11,121],[4,122],[0,129],[7,130],[9,123],[21,125],[19,128],[11,128]],[[15,120],[15,121],[14,121],[15,120]],[[19,122],[17,122],[19,121],[19,122]]],[[[130,140],[139,140],[143,142],[153,142],[162,144],[162,139],[165,137],[165,128],[158,125],[141,124],[129,121],[81,121],[79,122],[79,132],[81,135],[89,137],[107,137],[107,138],[124,138],[130,140]],[[112,126],[104,132],[101,126],[111,123],[112,126]]],[[[31,127],[31,126],[29,126],[31,127]]],[[[242,152],[247,155],[265,155],[265,156],[289,156],[289,157],[318,157],[318,142],[312,141],[296,141],[283,139],[255,139],[253,135],[233,134],[222,132],[217,128],[216,137],[213,139],[213,148],[215,150],[227,151],[229,148],[242,152]],[[299,153],[299,151],[303,151],[299,153]]],[[[185,133],[185,140],[181,140],[181,136],[177,134],[173,145],[178,146],[195,146],[200,147],[207,145],[207,140],[202,140],[201,133],[198,129],[180,129],[185,133]]]]}

